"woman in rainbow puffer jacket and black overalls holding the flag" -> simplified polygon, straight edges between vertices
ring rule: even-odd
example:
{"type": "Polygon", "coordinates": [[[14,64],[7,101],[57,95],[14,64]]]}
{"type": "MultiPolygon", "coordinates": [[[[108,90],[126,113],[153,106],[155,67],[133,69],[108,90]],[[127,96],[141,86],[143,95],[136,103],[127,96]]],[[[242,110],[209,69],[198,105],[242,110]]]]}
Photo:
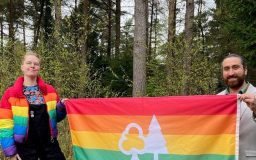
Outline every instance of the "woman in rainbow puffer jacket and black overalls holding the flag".
{"type": "Polygon", "coordinates": [[[66,115],[65,100],[46,84],[37,53],[21,61],[23,76],[5,91],[0,107],[0,139],[6,157],[23,160],[65,159],[57,141],[57,122],[66,115]]]}

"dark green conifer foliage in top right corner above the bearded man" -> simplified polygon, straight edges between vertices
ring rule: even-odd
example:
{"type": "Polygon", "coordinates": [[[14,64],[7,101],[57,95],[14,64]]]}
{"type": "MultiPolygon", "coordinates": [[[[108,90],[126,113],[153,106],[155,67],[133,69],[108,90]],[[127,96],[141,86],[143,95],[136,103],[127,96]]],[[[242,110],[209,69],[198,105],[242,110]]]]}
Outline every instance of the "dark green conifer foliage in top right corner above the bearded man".
{"type": "MultiPolygon", "coordinates": [[[[227,9],[227,19],[223,27],[237,39],[241,48],[239,51],[245,57],[256,58],[256,1],[253,0],[223,0],[223,7],[227,9]]],[[[252,61],[253,65],[256,65],[252,61]]]]}

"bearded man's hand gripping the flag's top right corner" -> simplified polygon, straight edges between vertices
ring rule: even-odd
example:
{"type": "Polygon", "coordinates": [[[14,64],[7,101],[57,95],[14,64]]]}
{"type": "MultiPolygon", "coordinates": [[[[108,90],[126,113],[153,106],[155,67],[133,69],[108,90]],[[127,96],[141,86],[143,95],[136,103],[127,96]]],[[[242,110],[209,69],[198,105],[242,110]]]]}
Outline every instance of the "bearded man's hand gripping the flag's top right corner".
{"type": "Polygon", "coordinates": [[[244,101],[251,109],[251,111],[253,111],[256,114],[256,99],[254,93],[245,93],[242,95],[238,95],[237,99],[239,99],[240,101],[244,101]]]}

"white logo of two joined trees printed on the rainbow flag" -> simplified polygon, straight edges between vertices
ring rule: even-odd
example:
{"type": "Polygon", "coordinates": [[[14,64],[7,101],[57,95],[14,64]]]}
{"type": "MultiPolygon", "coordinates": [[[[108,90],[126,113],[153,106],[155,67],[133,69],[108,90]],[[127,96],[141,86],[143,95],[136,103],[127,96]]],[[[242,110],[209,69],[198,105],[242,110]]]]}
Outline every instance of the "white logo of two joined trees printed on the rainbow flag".
{"type": "Polygon", "coordinates": [[[129,125],[127,125],[125,131],[123,131],[122,137],[119,140],[119,149],[125,155],[132,155],[131,160],[139,160],[138,154],[144,153],[153,153],[154,160],[158,160],[159,153],[169,153],[165,144],[166,141],[163,137],[163,134],[161,133],[161,127],[157,121],[157,118],[155,117],[155,115],[153,115],[153,118],[149,125],[149,134],[147,135],[147,139],[143,136],[141,126],[139,126],[137,123],[130,123],[129,125]],[[145,146],[143,149],[137,149],[135,147],[132,147],[129,151],[123,149],[123,142],[127,140],[127,135],[129,134],[129,130],[131,129],[131,127],[135,127],[139,131],[139,135],[137,138],[144,141],[145,146]]]}

